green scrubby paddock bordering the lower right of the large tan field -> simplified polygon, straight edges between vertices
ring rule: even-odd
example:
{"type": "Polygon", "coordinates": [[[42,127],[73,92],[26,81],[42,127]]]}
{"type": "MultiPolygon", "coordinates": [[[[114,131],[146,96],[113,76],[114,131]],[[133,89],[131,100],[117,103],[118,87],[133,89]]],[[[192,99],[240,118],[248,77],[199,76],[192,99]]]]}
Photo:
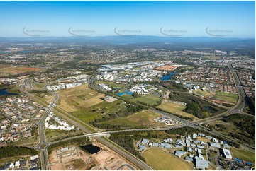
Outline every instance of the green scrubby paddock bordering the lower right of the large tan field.
{"type": "Polygon", "coordinates": [[[104,117],[106,114],[118,112],[118,110],[121,110],[125,106],[126,104],[121,100],[116,100],[114,102],[103,101],[97,105],[72,112],[71,114],[82,122],[90,122],[94,119],[104,117]]]}

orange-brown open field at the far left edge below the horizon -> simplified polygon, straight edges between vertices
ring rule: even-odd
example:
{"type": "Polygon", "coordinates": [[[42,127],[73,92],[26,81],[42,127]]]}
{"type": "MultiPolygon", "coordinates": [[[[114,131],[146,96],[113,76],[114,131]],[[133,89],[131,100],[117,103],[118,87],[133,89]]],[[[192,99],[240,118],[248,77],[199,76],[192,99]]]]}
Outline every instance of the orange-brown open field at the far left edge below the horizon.
{"type": "Polygon", "coordinates": [[[0,76],[17,75],[19,73],[40,71],[40,68],[22,67],[22,66],[8,66],[0,64],[0,76]]]}

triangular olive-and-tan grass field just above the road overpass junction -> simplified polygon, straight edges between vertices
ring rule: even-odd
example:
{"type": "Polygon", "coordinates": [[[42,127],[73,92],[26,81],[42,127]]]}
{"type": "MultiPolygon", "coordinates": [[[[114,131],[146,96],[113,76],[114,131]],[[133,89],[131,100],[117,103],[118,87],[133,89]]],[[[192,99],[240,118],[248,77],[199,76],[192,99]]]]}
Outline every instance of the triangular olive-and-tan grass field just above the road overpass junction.
{"type": "Polygon", "coordinates": [[[143,110],[129,115],[128,117],[122,117],[113,119],[107,122],[101,122],[101,124],[120,125],[120,126],[164,126],[160,122],[154,122],[153,119],[161,117],[160,114],[156,114],[150,110],[143,110]]]}

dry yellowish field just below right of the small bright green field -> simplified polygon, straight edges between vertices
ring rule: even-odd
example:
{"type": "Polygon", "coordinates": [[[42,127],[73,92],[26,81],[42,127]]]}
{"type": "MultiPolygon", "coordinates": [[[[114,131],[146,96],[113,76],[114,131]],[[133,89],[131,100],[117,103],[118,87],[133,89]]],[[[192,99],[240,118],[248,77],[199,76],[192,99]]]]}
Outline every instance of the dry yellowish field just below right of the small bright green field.
{"type": "Polygon", "coordinates": [[[180,115],[182,117],[194,117],[193,114],[189,114],[187,112],[183,112],[185,106],[181,104],[177,104],[175,102],[164,102],[161,105],[157,106],[157,108],[160,108],[162,110],[165,110],[166,112],[170,112],[173,114],[180,115]]]}

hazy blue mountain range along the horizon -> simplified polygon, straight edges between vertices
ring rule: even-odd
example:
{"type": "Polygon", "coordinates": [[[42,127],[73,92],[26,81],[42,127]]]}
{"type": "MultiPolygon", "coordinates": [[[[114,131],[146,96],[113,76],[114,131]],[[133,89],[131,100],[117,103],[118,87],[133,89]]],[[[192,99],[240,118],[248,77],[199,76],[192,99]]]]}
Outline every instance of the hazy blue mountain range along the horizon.
{"type": "Polygon", "coordinates": [[[96,36],[96,37],[0,37],[0,42],[101,42],[113,44],[149,43],[149,42],[255,42],[255,38],[224,37],[160,37],[160,36],[96,36]]]}

